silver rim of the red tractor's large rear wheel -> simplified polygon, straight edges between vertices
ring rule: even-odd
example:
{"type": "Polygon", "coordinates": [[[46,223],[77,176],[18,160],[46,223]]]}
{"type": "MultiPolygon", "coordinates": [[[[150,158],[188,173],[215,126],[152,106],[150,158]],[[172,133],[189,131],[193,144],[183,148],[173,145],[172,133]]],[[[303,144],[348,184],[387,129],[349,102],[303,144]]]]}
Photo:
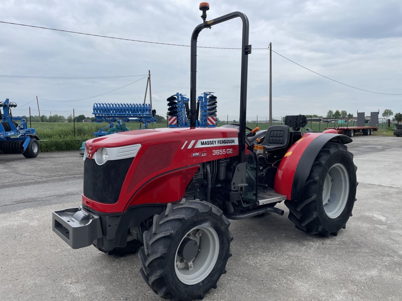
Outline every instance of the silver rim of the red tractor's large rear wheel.
{"type": "Polygon", "coordinates": [[[340,163],[332,165],[322,189],[322,203],[329,218],[337,218],[345,209],[349,197],[349,174],[340,163]]]}

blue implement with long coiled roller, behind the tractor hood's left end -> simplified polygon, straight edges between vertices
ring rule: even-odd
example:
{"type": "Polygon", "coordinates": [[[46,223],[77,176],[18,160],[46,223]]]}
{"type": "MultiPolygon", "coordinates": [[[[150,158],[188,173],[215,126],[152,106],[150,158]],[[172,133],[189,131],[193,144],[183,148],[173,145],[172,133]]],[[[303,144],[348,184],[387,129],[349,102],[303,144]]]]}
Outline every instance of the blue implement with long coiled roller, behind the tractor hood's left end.
{"type": "MultiPolygon", "coordinates": [[[[156,110],[152,110],[150,104],[94,104],[92,114],[95,122],[109,124],[94,132],[96,137],[113,133],[126,132],[125,122],[139,122],[139,129],[148,128],[148,124],[156,122],[156,110]]],[[[84,155],[85,142],[82,142],[80,154],[84,155]]]]}

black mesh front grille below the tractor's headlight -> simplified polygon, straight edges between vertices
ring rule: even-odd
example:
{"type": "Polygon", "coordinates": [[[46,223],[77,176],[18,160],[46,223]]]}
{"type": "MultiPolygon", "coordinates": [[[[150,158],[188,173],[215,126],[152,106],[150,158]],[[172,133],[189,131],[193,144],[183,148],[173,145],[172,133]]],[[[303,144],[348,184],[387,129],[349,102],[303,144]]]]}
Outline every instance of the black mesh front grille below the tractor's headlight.
{"type": "Polygon", "coordinates": [[[93,201],[114,204],[133,158],[107,161],[97,165],[94,159],[84,162],[84,196],[93,201]]]}

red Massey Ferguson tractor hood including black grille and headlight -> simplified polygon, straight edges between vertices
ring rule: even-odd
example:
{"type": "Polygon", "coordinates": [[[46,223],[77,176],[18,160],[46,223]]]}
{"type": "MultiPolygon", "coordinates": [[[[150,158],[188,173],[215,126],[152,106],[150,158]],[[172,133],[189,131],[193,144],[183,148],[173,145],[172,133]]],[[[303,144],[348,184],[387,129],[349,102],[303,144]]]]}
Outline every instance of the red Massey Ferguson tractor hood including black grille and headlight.
{"type": "Polygon", "coordinates": [[[82,203],[117,213],[150,200],[177,201],[201,163],[238,156],[238,135],[226,127],[160,128],[88,140],[82,203]]]}

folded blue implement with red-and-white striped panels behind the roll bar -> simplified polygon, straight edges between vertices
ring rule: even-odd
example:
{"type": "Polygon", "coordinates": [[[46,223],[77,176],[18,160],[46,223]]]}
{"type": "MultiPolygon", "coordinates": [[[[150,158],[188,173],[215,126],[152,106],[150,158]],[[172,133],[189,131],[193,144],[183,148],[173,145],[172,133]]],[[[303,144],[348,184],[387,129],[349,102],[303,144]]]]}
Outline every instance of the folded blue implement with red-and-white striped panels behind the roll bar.
{"type": "MultiPolygon", "coordinates": [[[[197,98],[196,126],[199,128],[214,128],[216,126],[217,100],[213,92],[204,92],[197,98]]],[[[180,128],[190,126],[189,99],[181,93],[176,93],[168,99],[168,126],[180,128]]]]}

